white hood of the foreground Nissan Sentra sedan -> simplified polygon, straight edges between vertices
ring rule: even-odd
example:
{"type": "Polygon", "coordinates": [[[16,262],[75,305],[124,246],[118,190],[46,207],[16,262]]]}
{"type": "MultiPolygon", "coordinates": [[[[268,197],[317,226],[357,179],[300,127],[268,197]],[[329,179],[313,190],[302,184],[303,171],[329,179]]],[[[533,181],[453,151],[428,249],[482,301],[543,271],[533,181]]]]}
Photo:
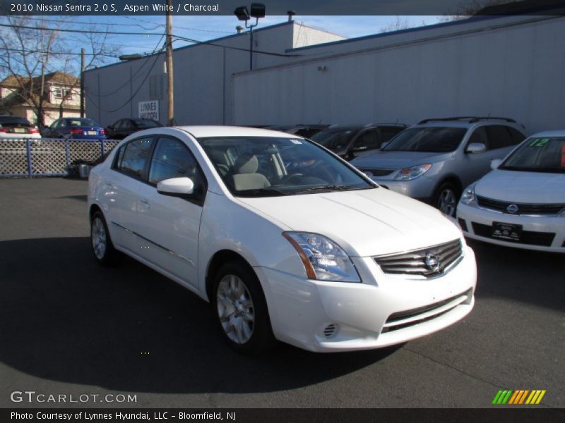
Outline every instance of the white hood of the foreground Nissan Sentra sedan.
{"type": "Polygon", "coordinates": [[[384,188],[237,200],[292,231],[326,235],[351,257],[403,252],[460,238],[438,210],[384,188]]]}

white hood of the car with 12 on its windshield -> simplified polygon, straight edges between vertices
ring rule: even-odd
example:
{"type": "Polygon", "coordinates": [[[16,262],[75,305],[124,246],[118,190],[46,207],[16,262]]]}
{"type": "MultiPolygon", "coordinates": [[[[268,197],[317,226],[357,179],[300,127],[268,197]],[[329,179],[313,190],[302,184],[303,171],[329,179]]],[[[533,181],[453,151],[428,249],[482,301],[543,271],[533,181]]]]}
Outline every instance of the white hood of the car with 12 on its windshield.
{"type": "Polygon", "coordinates": [[[507,202],[564,203],[565,174],[496,169],[477,182],[475,194],[507,202]]]}

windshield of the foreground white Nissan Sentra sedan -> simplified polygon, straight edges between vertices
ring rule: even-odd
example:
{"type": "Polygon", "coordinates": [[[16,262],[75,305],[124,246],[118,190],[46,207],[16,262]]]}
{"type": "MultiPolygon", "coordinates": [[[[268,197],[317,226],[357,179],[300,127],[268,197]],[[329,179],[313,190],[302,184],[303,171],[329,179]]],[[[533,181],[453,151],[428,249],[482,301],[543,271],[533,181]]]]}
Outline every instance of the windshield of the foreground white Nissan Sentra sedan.
{"type": "Polygon", "coordinates": [[[378,188],[304,138],[206,137],[198,142],[239,197],[378,188]]]}

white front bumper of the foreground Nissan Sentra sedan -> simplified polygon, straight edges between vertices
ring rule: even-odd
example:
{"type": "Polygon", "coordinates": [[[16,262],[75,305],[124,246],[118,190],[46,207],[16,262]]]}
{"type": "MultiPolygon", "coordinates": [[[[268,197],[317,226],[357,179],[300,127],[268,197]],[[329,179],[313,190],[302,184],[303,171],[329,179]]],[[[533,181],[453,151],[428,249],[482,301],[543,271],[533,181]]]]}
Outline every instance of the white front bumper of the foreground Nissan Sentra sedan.
{"type": "Polygon", "coordinates": [[[352,259],[362,283],[255,270],[280,341],[317,352],[367,350],[439,331],[471,311],[477,269],[470,247],[463,251],[450,271],[429,279],[383,274],[371,257],[352,259]]]}

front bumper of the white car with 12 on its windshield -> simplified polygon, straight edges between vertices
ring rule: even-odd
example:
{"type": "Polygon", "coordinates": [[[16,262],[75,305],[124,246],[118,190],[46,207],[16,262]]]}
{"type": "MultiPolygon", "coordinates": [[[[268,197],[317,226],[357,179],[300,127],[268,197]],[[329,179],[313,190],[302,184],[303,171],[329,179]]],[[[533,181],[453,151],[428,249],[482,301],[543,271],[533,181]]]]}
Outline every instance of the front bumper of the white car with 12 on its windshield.
{"type": "Polygon", "coordinates": [[[467,238],[525,250],[565,253],[565,217],[515,216],[460,202],[457,206],[457,218],[467,238]],[[522,233],[525,234],[523,241],[492,238],[489,231],[493,222],[521,225],[522,233]]]}

